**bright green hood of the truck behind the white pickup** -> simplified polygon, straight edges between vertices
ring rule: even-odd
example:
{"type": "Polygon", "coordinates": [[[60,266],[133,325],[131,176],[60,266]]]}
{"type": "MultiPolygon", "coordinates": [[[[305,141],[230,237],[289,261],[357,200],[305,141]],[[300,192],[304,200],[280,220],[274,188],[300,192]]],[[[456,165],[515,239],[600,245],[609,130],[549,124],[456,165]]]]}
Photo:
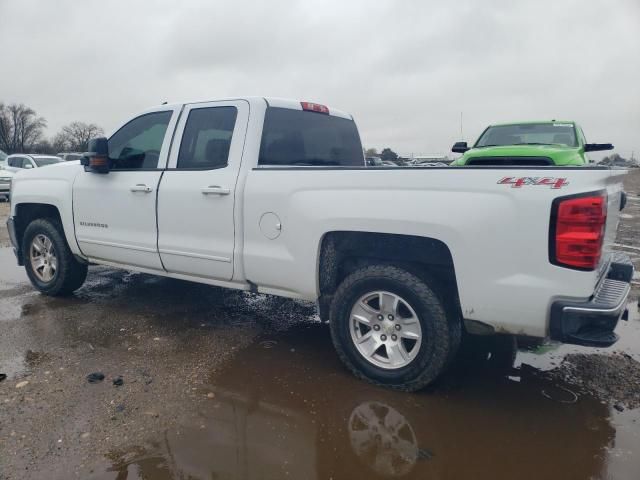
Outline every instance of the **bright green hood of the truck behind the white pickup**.
{"type": "Polygon", "coordinates": [[[555,165],[584,165],[581,147],[563,145],[505,145],[472,148],[452,165],[466,165],[470,158],[478,157],[548,157],[555,165]]]}

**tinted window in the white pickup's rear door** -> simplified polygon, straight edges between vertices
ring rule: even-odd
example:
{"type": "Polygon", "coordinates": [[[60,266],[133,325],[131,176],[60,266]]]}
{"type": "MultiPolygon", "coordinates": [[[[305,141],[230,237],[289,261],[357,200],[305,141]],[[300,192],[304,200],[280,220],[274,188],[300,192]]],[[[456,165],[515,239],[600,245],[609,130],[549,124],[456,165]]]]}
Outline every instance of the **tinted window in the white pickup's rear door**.
{"type": "Polygon", "coordinates": [[[226,167],[237,116],[236,107],[191,110],[180,142],[177,168],[213,170],[226,167]]]}

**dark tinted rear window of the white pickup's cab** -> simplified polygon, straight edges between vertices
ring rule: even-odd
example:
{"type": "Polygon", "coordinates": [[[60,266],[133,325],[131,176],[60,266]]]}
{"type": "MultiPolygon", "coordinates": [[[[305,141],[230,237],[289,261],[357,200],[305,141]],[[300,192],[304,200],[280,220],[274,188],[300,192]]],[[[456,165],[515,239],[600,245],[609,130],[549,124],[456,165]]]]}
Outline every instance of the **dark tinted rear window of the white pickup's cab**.
{"type": "Polygon", "coordinates": [[[259,165],[364,166],[353,120],[317,112],[267,109],[259,165]]]}

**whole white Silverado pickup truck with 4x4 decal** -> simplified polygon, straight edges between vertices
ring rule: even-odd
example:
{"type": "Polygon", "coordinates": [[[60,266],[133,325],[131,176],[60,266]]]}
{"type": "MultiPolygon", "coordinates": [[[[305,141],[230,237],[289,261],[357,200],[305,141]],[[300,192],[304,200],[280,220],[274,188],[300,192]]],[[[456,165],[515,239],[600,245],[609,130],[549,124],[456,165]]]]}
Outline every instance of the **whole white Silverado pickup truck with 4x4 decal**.
{"type": "Polygon", "coordinates": [[[348,368],[403,390],[463,329],[617,339],[624,171],[367,167],[350,115],[271,98],[162,105],[90,150],[12,183],[10,237],[45,294],[102,264],[317,301],[348,368]]]}

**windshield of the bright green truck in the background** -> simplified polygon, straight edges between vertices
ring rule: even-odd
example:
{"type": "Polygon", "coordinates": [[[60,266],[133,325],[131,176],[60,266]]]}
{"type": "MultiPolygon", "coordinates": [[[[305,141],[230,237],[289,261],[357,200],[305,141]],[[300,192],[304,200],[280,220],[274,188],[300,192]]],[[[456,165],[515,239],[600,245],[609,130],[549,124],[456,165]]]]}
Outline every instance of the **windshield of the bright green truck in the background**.
{"type": "Polygon", "coordinates": [[[575,147],[576,132],[571,123],[530,123],[487,128],[474,147],[500,145],[566,145],[575,147]]]}

